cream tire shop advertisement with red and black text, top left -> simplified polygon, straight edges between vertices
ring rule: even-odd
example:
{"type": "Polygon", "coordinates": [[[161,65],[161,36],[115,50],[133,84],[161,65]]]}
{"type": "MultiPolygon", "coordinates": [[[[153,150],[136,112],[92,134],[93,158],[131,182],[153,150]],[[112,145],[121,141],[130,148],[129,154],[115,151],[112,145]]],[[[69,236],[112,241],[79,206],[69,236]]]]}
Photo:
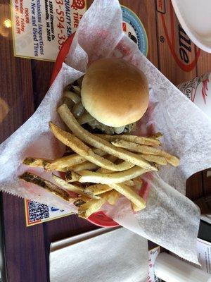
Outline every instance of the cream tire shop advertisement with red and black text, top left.
{"type": "Polygon", "coordinates": [[[55,61],[86,9],[85,0],[11,0],[15,56],[55,61]]]}

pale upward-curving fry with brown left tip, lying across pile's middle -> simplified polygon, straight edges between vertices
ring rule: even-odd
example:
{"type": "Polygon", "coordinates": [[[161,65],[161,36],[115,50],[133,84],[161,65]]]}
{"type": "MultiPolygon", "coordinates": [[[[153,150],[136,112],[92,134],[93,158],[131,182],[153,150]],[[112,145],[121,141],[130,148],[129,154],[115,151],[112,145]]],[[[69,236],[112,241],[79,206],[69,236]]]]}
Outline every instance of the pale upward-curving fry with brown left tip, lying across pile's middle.
{"type": "Polygon", "coordinates": [[[127,171],[120,171],[115,173],[98,173],[94,171],[68,171],[66,173],[66,180],[69,182],[79,181],[81,183],[101,183],[113,184],[122,183],[124,181],[141,176],[141,174],[148,172],[148,170],[134,166],[127,171]]]}

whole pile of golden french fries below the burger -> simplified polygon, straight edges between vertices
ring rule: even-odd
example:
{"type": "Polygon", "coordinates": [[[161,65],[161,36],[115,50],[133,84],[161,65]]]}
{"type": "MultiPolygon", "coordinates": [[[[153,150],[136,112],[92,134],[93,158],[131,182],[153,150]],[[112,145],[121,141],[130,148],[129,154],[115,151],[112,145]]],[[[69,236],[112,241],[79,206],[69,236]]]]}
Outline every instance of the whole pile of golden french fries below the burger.
{"type": "MultiPolygon", "coordinates": [[[[73,94],[71,99],[78,102],[73,94]]],[[[58,114],[68,131],[52,122],[49,126],[53,135],[68,148],[65,155],[53,160],[27,157],[23,161],[27,166],[52,171],[54,183],[28,171],[20,178],[72,202],[84,219],[106,202],[114,205],[120,195],[132,203],[134,212],[141,211],[146,202],[134,185],[137,179],[141,188],[143,173],[158,171],[159,166],[167,164],[179,165],[177,157],[160,149],[160,133],[151,137],[92,134],[82,128],[67,104],[58,108],[58,114]]]]}

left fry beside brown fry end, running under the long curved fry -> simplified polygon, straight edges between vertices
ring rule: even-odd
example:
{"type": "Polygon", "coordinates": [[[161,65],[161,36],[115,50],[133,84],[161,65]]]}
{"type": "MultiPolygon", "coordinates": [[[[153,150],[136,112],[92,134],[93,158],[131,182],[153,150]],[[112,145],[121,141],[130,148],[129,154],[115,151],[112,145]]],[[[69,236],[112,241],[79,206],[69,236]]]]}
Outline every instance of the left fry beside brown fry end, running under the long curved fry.
{"type": "MultiPolygon", "coordinates": [[[[95,154],[99,156],[104,156],[106,152],[103,152],[100,149],[93,149],[95,154]]],[[[70,156],[61,157],[50,163],[46,164],[45,168],[50,171],[67,171],[68,168],[76,166],[77,164],[82,164],[84,161],[87,161],[79,154],[71,154],[70,156]]]]}

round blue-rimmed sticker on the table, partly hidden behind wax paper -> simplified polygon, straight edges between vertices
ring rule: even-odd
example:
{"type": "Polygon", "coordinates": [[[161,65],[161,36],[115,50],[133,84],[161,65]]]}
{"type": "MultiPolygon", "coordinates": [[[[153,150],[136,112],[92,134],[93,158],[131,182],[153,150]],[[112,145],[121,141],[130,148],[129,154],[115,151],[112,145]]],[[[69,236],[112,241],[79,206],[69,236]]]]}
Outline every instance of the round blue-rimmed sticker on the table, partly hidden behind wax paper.
{"type": "Polygon", "coordinates": [[[121,6],[121,8],[123,18],[122,28],[124,33],[138,45],[141,53],[147,56],[148,38],[143,23],[141,23],[141,20],[132,10],[125,6],[121,6]]]}

